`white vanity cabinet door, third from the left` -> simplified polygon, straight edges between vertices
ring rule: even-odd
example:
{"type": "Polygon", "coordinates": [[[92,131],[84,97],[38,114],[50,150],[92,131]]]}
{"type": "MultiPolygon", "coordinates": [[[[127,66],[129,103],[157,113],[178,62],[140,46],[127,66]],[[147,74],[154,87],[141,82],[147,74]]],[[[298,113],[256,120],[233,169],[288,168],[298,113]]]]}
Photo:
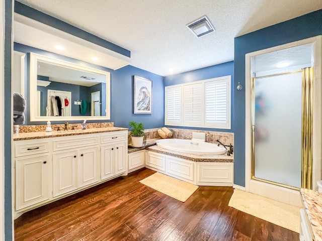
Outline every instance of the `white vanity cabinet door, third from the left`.
{"type": "Polygon", "coordinates": [[[98,175],[98,147],[78,151],[77,178],[78,188],[88,186],[99,181],[98,175]]]}

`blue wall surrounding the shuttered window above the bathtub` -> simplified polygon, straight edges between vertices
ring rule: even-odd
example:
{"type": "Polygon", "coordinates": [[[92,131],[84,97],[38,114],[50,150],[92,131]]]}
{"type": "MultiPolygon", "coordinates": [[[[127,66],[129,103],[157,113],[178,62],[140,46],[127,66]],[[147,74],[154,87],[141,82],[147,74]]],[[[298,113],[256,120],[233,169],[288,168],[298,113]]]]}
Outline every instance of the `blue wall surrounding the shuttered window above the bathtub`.
{"type": "Polygon", "coordinates": [[[208,129],[208,128],[191,128],[191,127],[176,127],[167,126],[171,128],[181,128],[181,129],[194,129],[194,130],[204,130],[204,131],[218,131],[218,132],[233,132],[234,123],[234,73],[233,73],[233,61],[209,66],[206,68],[196,69],[188,71],[181,74],[175,74],[165,77],[165,86],[189,83],[204,79],[211,79],[226,75],[231,75],[231,129],[208,129]]]}

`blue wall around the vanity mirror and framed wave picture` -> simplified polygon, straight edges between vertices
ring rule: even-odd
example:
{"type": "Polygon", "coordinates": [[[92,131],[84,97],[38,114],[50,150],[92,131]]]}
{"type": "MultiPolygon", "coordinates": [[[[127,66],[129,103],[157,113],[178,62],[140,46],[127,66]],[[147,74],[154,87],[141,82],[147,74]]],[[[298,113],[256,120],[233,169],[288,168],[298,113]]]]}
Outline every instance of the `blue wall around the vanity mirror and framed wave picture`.
{"type": "MultiPolygon", "coordinates": [[[[129,121],[142,122],[146,129],[158,128],[164,126],[164,77],[151,72],[126,66],[118,70],[108,69],[95,64],[86,63],[80,60],[54,54],[44,50],[36,49],[19,43],[14,43],[14,50],[23,53],[37,53],[52,58],[81,64],[111,73],[111,119],[116,127],[128,128],[129,121]],[[151,114],[133,114],[133,76],[138,75],[143,78],[152,80],[152,113],[151,114]]],[[[26,58],[27,73],[25,96],[27,99],[26,122],[25,125],[45,125],[43,122],[30,122],[29,116],[29,54],[26,58]]],[[[49,85],[50,86],[50,85],[49,85]]],[[[80,97],[79,97],[80,98],[80,97]]],[[[74,101],[74,100],[72,100],[74,101]]],[[[89,100],[88,100],[89,101],[89,100]]],[[[88,113],[89,114],[89,113],[88,113]]],[[[90,121],[89,121],[90,122],[90,121]]],[[[94,121],[93,121],[94,122],[94,121]]],[[[95,121],[97,122],[97,121],[95,121]]],[[[53,124],[63,122],[52,122],[53,124]]],[[[69,121],[69,123],[77,123],[69,121]]]]}

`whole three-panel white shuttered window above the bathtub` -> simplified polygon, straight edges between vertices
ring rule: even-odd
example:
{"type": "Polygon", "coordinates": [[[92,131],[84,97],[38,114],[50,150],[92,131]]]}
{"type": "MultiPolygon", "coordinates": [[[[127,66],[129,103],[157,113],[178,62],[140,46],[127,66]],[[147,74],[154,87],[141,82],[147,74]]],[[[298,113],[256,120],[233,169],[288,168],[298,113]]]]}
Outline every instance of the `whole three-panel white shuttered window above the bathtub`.
{"type": "Polygon", "coordinates": [[[165,125],[230,129],[230,76],[165,87],[165,125]]]}

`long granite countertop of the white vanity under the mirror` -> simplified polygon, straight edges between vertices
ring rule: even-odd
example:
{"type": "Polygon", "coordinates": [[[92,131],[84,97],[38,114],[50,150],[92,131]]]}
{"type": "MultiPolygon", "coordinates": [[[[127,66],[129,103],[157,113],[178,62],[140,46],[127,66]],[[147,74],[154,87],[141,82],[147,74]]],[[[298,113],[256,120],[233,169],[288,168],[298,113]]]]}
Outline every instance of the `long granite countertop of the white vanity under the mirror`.
{"type": "Polygon", "coordinates": [[[64,137],[64,136],[75,136],[84,134],[94,134],[103,132],[119,132],[128,131],[127,128],[120,127],[106,127],[106,128],[89,128],[86,130],[69,130],[69,131],[53,131],[53,132],[30,132],[30,133],[19,133],[14,134],[14,141],[40,139],[49,137],[64,137]]]}

